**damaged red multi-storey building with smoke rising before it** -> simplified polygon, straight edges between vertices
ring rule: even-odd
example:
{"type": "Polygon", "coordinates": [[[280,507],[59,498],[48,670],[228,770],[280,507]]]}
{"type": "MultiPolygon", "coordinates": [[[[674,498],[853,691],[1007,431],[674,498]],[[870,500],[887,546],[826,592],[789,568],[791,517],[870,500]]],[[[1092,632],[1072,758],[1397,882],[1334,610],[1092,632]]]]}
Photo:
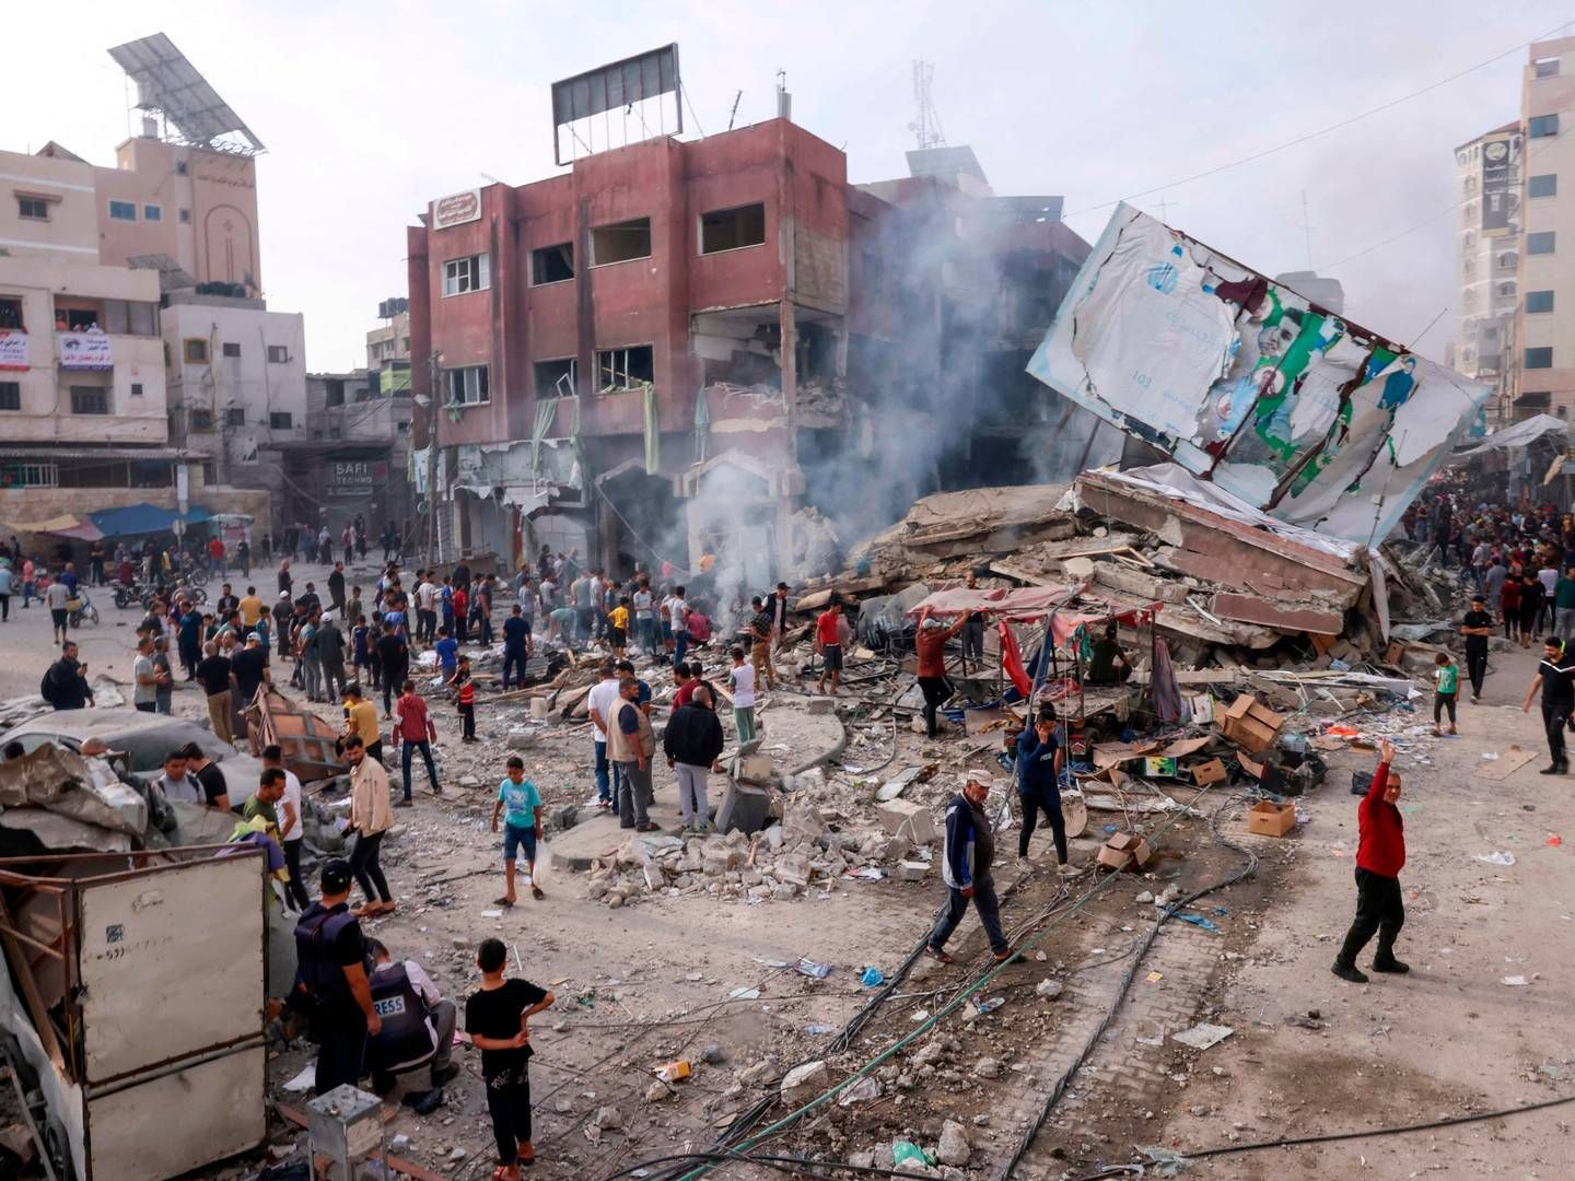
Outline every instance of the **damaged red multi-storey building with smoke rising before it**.
{"type": "Polygon", "coordinates": [[[758,584],[830,543],[802,510],[847,520],[893,472],[896,499],[1011,482],[992,431],[1062,413],[1022,373],[1088,250],[1058,211],[983,173],[849,184],[789,118],[432,202],[408,230],[413,463],[441,556],[731,550],[758,584]],[[898,428],[936,438],[925,463],[890,463],[898,428]]]}

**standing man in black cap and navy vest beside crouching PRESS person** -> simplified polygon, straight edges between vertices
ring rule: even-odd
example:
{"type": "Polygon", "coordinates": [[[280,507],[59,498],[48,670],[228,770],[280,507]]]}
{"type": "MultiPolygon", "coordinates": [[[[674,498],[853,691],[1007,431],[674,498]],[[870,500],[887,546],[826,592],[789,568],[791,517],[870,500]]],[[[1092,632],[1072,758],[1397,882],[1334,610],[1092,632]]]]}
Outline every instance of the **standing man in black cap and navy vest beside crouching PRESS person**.
{"type": "Polygon", "coordinates": [[[296,923],[296,990],[312,1017],[317,1039],[317,1093],[354,1087],[367,1053],[367,1035],[383,1031],[372,1003],[372,957],[361,923],[350,912],[350,863],[323,866],[323,898],[296,923]]]}

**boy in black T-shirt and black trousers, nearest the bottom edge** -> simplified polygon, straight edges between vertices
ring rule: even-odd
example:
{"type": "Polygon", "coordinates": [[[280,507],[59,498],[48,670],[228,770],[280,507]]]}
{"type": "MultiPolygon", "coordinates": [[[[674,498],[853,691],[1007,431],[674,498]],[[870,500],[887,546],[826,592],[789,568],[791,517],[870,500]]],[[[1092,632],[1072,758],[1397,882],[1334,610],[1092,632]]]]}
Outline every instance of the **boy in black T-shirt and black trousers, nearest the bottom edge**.
{"type": "Polygon", "coordinates": [[[482,987],[465,1001],[465,1031],[482,1052],[482,1079],[487,1083],[487,1110],[498,1140],[502,1181],[520,1181],[520,1165],[536,1164],[531,1145],[531,1031],[532,1016],[553,1003],[526,979],[506,979],[509,948],[501,939],[485,939],[476,953],[482,987]]]}

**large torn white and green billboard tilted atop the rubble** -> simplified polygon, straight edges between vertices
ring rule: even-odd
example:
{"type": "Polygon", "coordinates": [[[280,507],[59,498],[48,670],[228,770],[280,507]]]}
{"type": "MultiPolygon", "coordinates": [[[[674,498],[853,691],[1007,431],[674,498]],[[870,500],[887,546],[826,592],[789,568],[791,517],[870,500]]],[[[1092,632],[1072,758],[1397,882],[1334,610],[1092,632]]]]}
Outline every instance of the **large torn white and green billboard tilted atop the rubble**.
{"type": "Polygon", "coordinates": [[[1128,205],[1028,373],[1271,516],[1364,543],[1490,394],[1128,205]]]}

